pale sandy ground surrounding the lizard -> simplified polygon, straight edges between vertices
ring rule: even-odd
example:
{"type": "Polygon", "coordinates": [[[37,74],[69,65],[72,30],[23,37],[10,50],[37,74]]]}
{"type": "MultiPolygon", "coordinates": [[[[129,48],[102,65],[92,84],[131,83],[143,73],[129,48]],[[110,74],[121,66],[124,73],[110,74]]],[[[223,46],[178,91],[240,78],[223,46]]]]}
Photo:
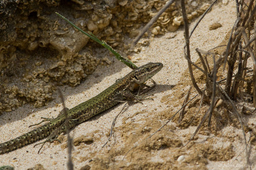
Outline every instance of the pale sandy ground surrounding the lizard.
{"type": "MultiPolygon", "coordinates": [[[[217,46],[232,28],[235,19],[236,8],[233,1],[230,1],[228,5],[220,3],[215,6],[199,24],[190,39],[192,60],[198,59],[195,48],[209,50],[217,46]],[[221,23],[222,27],[209,31],[209,25],[217,22],[221,23]]],[[[190,28],[194,24],[195,21],[190,24],[190,28]]],[[[80,169],[85,165],[89,165],[93,170],[243,169],[236,167],[237,164],[246,164],[242,133],[239,127],[227,125],[221,128],[218,134],[199,133],[197,143],[180,149],[194,133],[196,125],[180,128],[176,123],[177,120],[170,122],[163,130],[147,142],[140,144],[135,149],[136,151],[132,151],[122,160],[134,144],[140,143],[142,139],[157,130],[180,108],[190,85],[189,83],[183,84],[183,89],[177,89],[180,87],[178,83],[183,82],[182,74],[187,68],[186,59],[183,57],[183,44],[183,28],[180,28],[175,33],[166,33],[150,39],[150,45],[141,47],[142,51],[134,54],[134,58],[138,61],[135,64],[138,66],[147,62],[162,62],[164,65],[163,69],[153,77],[157,82],[157,86],[150,92],[154,94],[154,102],[144,101],[143,105],[140,103],[130,105],[116,121],[114,129],[116,142],[112,138],[103,149],[102,145],[108,139],[111,123],[121,111],[123,104],[75,127],[71,132],[73,138],[78,141],[77,138],[80,137],[85,141],[78,142],[74,147],[75,169],[80,169]],[[175,99],[173,96],[177,91],[182,93],[179,94],[180,98],[175,99]],[[226,134],[228,137],[219,134],[226,134]],[[182,157],[184,159],[181,159],[182,157]]],[[[111,61],[114,61],[113,65],[99,66],[86,81],[76,88],[63,86],[61,90],[66,99],[66,107],[73,108],[90,99],[112,85],[116,79],[131,71],[116,59],[111,58],[111,61]]],[[[195,94],[194,91],[192,96],[195,94]]],[[[31,105],[25,105],[13,111],[12,114],[4,113],[0,116],[0,142],[6,142],[28,132],[32,129],[28,128],[29,125],[40,122],[41,116],[57,116],[61,108],[60,99],[55,96],[55,100],[46,107],[35,109],[31,105]]],[[[248,122],[255,122],[256,118],[254,116],[248,119],[248,122]]],[[[25,170],[41,164],[47,170],[67,169],[67,149],[64,144],[66,137],[63,135],[61,137],[63,138],[61,144],[58,142],[45,144],[40,154],[37,153],[39,146],[34,148],[34,144],[29,144],[0,155],[0,166],[11,165],[17,170],[25,170]]],[[[255,147],[251,150],[251,162],[255,162],[256,159],[253,155],[255,155],[255,147]]],[[[255,165],[252,169],[256,169],[255,165]]]]}

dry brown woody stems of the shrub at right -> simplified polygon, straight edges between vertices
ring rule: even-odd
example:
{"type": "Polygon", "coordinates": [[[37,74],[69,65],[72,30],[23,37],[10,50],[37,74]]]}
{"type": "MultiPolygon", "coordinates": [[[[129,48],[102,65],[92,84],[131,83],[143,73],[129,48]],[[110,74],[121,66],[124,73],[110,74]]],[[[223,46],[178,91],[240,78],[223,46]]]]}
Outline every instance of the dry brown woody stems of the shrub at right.
{"type": "MultiPolygon", "coordinates": [[[[231,115],[237,120],[232,120],[231,122],[236,122],[235,124],[239,122],[240,126],[236,126],[240,127],[243,133],[247,164],[252,164],[247,144],[249,142],[250,144],[255,143],[255,125],[248,125],[243,121],[243,115],[253,114],[256,110],[256,4],[253,0],[236,1],[237,19],[232,31],[227,35],[227,43],[209,51],[195,49],[200,59],[197,64],[190,60],[189,37],[192,35],[192,32],[189,34],[183,0],[181,0],[181,4],[185,26],[184,36],[186,39],[184,54],[188,60],[189,75],[193,87],[201,95],[201,103],[197,113],[200,111],[201,106],[205,106],[202,105],[203,102],[209,105],[205,109],[204,116],[189,142],[193,140],[198,130],[207,120],[208,128],[211,127],[213,113],[215,113],[215,116],[231,115]],[[252,64],[248,64],[249,58],[252,64]],[[192,68],[192,65],[194,68],[192,68]],[[248,65],[252,65],[253,68],[248,67],[248,65]],[[199,79],[195,79],[195,72],[197,74],[201,72],[204,76],[199,76],[199,79]],[[200,85],[198,85],[198,82],[200,82],[200,85]],[[202,84],[204,84],[204,88],[201,88],[202,84]],[[217,113],[214,111],[217,108],[219,115],[216,115],[217,113]],[[249,139],[246,138],[245,134],[248,131],[253,134],[249,139]]],[[[188,93],[190,93],[190,90],[188,93]]],[[[185,99],[186,102],[187,100],[188,98],[185,99]]],[[[179,122],[181,122],[182,118],[183,115],[180,113],[179,122]]],[[[192,117],[193,119],[194,117],[192,117]]],[[[219,121],[219,123],[225,125],[224,121],[219,121]]],[[[213,128],[217,130],[217,127],[213,128]]]]}

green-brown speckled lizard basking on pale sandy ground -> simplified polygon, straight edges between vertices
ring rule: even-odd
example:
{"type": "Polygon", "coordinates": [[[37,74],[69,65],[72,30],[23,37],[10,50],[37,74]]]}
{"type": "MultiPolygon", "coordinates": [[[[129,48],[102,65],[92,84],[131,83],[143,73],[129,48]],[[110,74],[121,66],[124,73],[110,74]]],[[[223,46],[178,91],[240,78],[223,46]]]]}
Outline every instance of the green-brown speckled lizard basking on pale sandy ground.
{"type": "MultiPolygon", "coordinates": [[[[94,96],[93,98],[82,102],[81,104],[71,109],[64,108],[66,109],[67,116],[69,118],[69,128],[71,129],[76,125],[85,122],[91,117],[108,110],[119,102],[125,100],[135,100],[140,102],[141,100],[151,99],[147,98],[149,95],[135,95],[134,90],[138,85],[140,85],[140,87],[150,87],[148,85],[145,85],[144,82],[146,82],[148,79],[151,79],[151,77],[157,74],[162,68],[163,64],[160,62],[149,62],[138,68],[135,68],[125,77],[117,79],[113,85],[102,91],[97,96],[94,96]]],[[[7,153],[9,151],[23,147],[27,144],[36,142],[46,137],[47,139],[44,142],[41,142],[43,143],[41,148],[46,142],[53,142],[55,140],[58,140],[57,137],[61,133],[65,133],[67,128],[65,124],[66,115],[64,114],[64,109],[58,114],[55,119],[43,118],[45,120],[43,120],[42,122],[49,121],[48,123],[41,125],[40,127],[37,127],[34,130],[31,130],[28,133],[25,133],[15,139],[11,139],[7,142],[1,143],[0,154],[7,153]]],[[[39,149],[39,151],[41,150],[41,148],[39,149]]]]}

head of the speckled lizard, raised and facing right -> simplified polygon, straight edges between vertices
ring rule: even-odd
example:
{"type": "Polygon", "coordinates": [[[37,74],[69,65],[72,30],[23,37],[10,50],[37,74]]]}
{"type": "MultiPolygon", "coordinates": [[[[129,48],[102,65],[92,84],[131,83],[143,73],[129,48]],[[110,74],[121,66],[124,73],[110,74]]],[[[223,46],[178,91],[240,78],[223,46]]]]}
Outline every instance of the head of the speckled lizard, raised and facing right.
{"type": "Polygon", "coordinates": [[[163,68],[161,62],[149,62],[134,70],[134,81],[137,84],[142,84],[155,74],[157,74],[163,68]]]}

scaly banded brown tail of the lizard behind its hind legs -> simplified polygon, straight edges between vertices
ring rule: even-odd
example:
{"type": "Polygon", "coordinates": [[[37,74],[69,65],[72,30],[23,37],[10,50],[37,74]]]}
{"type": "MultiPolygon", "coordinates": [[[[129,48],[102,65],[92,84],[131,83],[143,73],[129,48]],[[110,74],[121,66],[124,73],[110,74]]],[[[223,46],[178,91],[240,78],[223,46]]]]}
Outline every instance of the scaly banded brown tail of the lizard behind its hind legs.
{"type": "Polygon", "coordinates": [[[52,132],[54,126],[49,122],[15,139],[0,144],[0,154],[15,150],[27,144],[43,139],[52,132]]]}

